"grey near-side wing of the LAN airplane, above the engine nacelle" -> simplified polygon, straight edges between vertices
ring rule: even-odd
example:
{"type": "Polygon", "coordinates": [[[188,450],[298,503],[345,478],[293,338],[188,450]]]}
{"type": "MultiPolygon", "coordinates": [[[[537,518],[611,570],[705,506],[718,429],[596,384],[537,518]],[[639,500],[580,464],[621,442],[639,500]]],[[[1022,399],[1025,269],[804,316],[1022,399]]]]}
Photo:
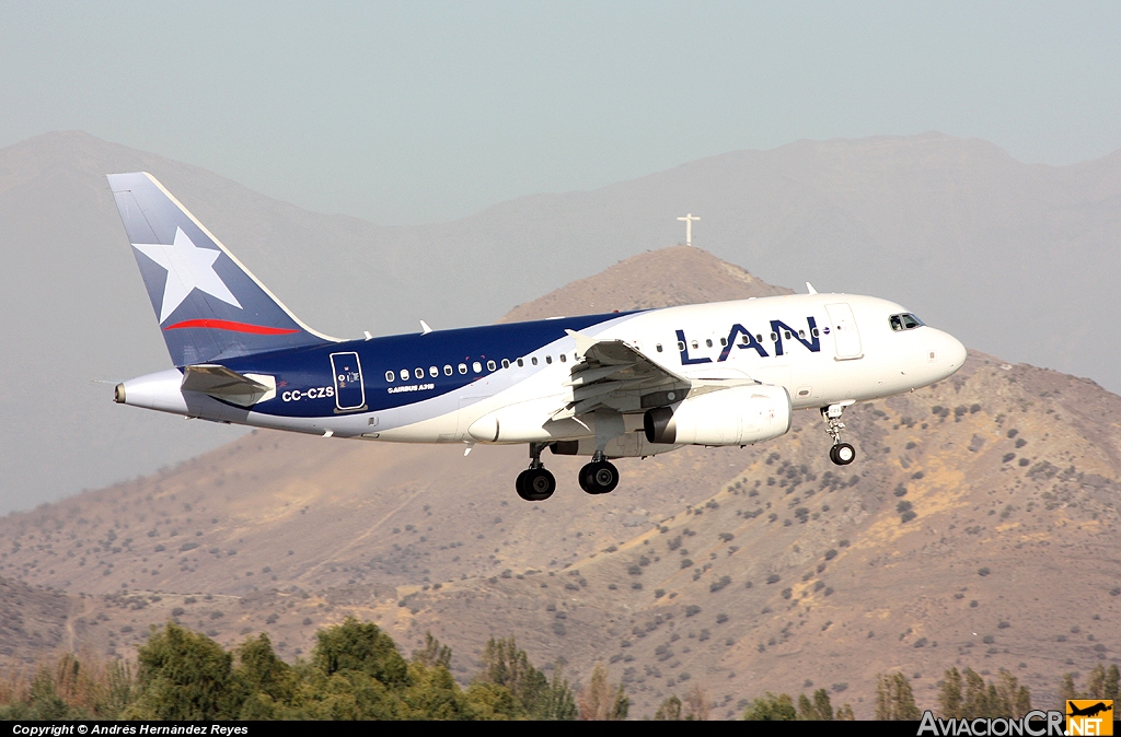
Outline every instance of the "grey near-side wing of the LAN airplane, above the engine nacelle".
{"type": "Polygon", "coordinates": [[[692,388],[688,379],[648,358],[622,340],[597,340],[567,330],[576,342],[583,361],[573,366],[572,401],[554,419],[574,417],[600,408],[637,412],[685,399],[692,388]]]}

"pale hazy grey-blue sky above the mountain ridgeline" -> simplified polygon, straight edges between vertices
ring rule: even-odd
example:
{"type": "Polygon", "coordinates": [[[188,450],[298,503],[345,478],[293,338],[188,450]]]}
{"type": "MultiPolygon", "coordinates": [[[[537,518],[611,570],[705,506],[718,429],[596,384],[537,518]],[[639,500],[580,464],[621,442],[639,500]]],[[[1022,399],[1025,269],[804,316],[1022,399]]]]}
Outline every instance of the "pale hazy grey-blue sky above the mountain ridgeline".
{"type": "Polygon", "coordinates": [[[385,224],[800,138],[1121,148],[1118,2],[0,3],[0,146],[50,130],[385,224]]]}

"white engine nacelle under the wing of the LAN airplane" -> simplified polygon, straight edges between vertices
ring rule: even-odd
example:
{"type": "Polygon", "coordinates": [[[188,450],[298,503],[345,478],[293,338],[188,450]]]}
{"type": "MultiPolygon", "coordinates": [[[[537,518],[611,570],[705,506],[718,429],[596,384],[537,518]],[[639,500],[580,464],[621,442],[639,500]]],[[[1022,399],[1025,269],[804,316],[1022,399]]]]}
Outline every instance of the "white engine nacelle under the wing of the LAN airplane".
{"type": "Polygon", "coordinates": [[[790,429],[794,407],[782,386],[757,384],[689,397],[658,407],[643,418],[650,442],[744,446],[777,438],[790,429]]]}

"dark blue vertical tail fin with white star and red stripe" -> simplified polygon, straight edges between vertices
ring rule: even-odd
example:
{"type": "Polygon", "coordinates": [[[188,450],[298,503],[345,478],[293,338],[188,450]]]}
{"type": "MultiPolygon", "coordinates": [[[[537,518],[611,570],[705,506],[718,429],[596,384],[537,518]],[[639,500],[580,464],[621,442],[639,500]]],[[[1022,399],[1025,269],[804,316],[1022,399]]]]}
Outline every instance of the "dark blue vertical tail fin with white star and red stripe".
{"type": "Polygon", "coordinates": [[[109,175],[176,366],[333,342],[300,323],[145,171],[109,175]]]}

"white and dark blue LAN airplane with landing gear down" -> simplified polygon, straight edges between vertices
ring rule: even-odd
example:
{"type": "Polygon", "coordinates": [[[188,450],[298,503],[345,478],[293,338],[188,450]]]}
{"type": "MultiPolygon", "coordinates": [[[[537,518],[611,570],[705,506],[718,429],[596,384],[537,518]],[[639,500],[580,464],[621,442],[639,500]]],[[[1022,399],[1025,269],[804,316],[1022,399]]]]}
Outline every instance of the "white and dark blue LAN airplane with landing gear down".
{"type": "Polygon", "coordinates": [[[611,463],[684,446],[748,446],[816,409],[830,459],[851,464],[855,402],[941,381],[965,347],[874,297],[808,293],[343,340],[286,308],[150,174],[109,175],[173,368],[114,401],[216,422],[390,442],[525,444],[515,484],[531,502],[541,460],[590,456],[589,494],[611,463]]]}

